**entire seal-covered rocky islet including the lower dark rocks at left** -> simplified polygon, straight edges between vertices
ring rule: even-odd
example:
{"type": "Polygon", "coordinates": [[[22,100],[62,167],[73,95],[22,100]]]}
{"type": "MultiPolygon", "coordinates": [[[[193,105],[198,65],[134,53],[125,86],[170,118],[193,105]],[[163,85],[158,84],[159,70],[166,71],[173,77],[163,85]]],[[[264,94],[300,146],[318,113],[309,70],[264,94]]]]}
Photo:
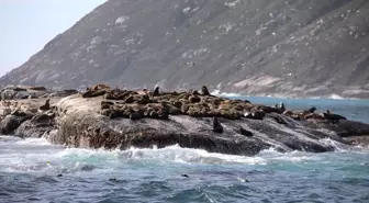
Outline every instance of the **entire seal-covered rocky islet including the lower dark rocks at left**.
{"type": "Polygon", "coordinates": [[[8,134],[43,136],[72,147],[126,149],[178,144],[248,156],[270,147],[331,151],[334,145],[323,142],[326,138],[360,145],[369,135],[369,124],[331,112],[297,112],[283,104],[267,106],[200,92],[128,91],[101,84],[66,98],[2,101],[0,109],[9,108],[12,113],[3,116],[0,126],[8,134]]]}

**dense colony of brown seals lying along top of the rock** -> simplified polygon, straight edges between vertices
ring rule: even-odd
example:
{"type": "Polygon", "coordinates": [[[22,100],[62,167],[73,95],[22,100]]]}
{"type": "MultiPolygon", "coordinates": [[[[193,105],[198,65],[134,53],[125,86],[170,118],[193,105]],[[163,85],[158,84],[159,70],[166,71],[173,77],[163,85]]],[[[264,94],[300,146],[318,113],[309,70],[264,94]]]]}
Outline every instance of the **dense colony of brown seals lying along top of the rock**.
{"type": "MultiPolygon", "coordinates": [[[[231,100],[211,95],[206,86],[198,90],[185,92],[160,92],[155,87],[153,92],[111,89],[107,84],[97,84],[82,93],[83,98],[103,97],[101,102],[102,115],[110,119],[142,119],[168,120],[170,115],[189,115],[193,117],[223,117],[227,120],[264,120],[268,113],[287,115],[293,120],[321,119],[327,122],[336,121],[337,116],[314,113],[316,108],[303,112],[292,112],[284,103],[276,106],[254,104],[249,101],[231,100]]],[[[342,119],[342,117],[340,117],[342,119]]],[[[339,119],[339,120],[340,120],[339,119]]],[[[284,123],[277,117],[278,123],[284,123]]]]}

